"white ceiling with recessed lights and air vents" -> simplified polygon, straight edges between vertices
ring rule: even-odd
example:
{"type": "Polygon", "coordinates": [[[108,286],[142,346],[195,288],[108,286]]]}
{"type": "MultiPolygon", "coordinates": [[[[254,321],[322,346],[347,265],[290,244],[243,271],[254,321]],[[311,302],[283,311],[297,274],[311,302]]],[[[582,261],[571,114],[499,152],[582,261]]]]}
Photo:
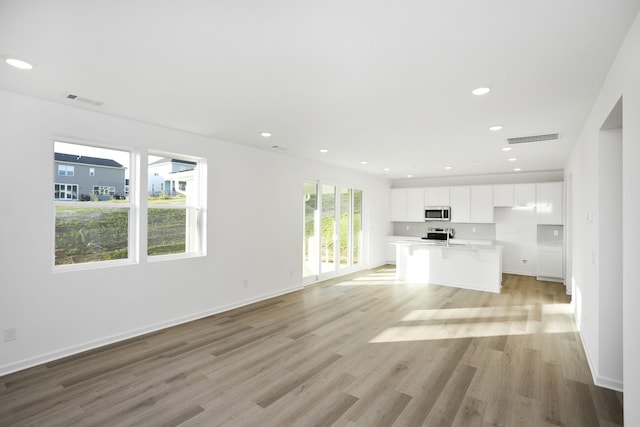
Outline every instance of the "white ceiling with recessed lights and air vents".
{"type": "Polygon", "coordinates": [[[0,87],[389,178],[557,170],[639,8],[0,0],[0,55],[35,64],[3,62],[0,87]],[[478,86],[493,90],[471,95],[478,86]],[[508,137],[555,132],[557,141],[500,150],[508,137]]]}

